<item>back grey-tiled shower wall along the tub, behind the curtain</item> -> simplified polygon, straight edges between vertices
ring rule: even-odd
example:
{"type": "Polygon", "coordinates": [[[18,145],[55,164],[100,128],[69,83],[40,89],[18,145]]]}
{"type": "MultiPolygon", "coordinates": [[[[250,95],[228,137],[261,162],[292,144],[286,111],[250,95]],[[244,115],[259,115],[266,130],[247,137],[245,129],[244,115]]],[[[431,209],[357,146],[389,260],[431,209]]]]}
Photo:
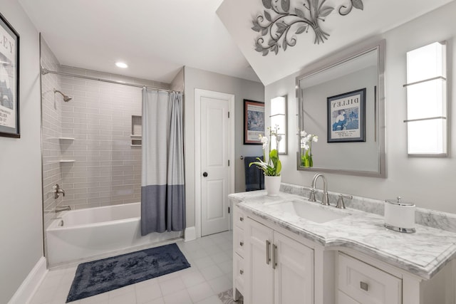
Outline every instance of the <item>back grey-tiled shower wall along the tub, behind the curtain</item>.
{"type": "MultiPolygon", "coordinates": [[[[169,88],[156,83],[61,66],[66,73],[169,88]]],[[[140,201],[141,147],[132,146],[132,115],[141,115],[141,88],[61,77],[73,99],[63,103],[61,141],[63,205],[92,208],[140,201]]]]}

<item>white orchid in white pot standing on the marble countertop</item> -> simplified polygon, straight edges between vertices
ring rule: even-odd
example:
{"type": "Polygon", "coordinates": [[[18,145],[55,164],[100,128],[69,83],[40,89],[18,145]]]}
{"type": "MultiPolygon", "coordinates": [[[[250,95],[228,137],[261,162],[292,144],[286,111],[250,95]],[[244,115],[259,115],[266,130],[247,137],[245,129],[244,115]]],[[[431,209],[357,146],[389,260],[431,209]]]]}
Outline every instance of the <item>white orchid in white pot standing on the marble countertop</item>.
{"type": "Polygon", "coordinates": [[[264,186],[269,196],[277,196],[279,194],[281,176],[280,172],[282,169],[282,164],[279,159],[279,142],[281,140],[281,135],[278,134],[279,127],[276,125],[274,129],[268,127],[269,130],[269,139],[266,136],[259,136],[261,143],[263,144],[263,159],[261,160],[257,157],[257,162],[251,162],[249,167],[252,164],[256,165],[259,169],[263,170],[264,173],[264,186]],[[271,145],[268,143],[271,142],[271,137],[276,139],[276,148],[271,149],[271,145]],[[268,158],[266,159],[266,148],[269,147],[268,158]]]}

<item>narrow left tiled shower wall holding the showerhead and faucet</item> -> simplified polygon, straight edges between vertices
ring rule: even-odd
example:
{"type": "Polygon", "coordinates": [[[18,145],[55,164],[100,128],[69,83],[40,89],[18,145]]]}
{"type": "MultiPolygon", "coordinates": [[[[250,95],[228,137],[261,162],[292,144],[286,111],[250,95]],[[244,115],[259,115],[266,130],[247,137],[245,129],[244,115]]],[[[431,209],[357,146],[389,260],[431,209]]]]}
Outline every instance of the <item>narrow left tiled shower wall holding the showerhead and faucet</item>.
{"type": "MultiPolygon", "coordinates": [[[[53,55],[46,41],[41,39],[41,65],[48,70],[58,70],[59,63],[53,55]]],[[[54,95],[53,89],[60,88],[60,80],[57,75],[48,74],[41,78],[42,98],[42,152],[43,152],[43,229],[46,231],[56,213],[53,209],[62,202],[62,197],[53,198],[52,187],[54,184],[62,184],[61,166],[61,111],[63,98],[54,95]]],[[[44,242],[46,244],[46,234],[44,242]]],[[[47,246],[45,255],[47,255],[47,246]]]]}

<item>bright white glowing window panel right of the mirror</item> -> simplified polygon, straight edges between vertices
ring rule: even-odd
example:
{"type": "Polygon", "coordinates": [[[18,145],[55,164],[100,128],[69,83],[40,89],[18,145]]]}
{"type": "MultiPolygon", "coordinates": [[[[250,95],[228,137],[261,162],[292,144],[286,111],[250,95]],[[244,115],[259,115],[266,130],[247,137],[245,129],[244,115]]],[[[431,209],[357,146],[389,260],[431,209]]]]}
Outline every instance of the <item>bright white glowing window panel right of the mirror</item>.
{"type": "Polygon", "coordinates": [[[407,53],[408,154],[447,155],[447,79],[445,43],[407,53]]]}

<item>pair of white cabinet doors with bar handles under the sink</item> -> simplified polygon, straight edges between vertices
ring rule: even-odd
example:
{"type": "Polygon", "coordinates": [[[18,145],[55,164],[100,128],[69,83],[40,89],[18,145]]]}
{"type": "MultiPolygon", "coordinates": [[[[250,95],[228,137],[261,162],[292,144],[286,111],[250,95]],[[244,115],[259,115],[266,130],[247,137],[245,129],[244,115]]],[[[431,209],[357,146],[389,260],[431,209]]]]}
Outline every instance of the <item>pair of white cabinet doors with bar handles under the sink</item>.
{"type": "Polygon", "coordinates": [[[314,303],[313,249],[249,217],[244,239],[244,303],[314,303]]]}

